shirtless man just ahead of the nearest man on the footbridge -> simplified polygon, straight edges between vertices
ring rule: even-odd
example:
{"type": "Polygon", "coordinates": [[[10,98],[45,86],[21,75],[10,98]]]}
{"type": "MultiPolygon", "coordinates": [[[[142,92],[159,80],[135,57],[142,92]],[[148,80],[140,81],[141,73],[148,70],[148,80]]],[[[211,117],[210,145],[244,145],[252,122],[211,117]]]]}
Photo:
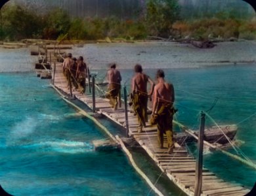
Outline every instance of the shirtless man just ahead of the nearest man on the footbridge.
{"type": "Polygon", "coordinates": [[[147,84],[150,82],[151,89],[150,94],[153,93],[154,82],[150,79],[149,76],[142,73],[141,65],[135,65],[135,76],[132,79],[132,101],[133,101],[133,109],[135,110],[135,114],[138,116],[139,127],[138,132],[142,131],[142,126],[146,126],[146,122],[148,122],[148,91],[147,84]]]}

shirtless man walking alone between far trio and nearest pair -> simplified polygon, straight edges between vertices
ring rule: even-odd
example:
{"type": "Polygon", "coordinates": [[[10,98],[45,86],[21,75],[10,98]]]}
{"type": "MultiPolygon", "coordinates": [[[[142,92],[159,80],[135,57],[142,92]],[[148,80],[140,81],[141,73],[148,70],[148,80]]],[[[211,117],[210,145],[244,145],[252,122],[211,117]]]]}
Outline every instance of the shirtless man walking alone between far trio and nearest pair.
{"type": "Polygon", "coordinates": [[[106,98],[110,99],[110,105],[114,110],[117,110],[118,96],[121,89],[121,74],[116,69],[116,63],[110,66],[110,70],[107,73],[108,79],[108,92],[106,93],[106,98]]]}

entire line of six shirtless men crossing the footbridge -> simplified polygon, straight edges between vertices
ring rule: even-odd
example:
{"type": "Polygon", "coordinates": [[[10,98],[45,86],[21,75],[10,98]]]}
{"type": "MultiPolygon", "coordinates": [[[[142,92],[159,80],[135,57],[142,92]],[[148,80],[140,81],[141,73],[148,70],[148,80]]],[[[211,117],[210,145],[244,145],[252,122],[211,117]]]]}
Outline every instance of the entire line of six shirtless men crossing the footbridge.
{"type": "MultiPolygon", "coordinates": [[[[67,80],[74,86],[74,90],[79,88],[81,93],[85,93],[85,80],[87,78],[87,65],[83,62],[83,57],[72,58],[68,54],[62,64],[63,73],[67,80]]],[[[173,114],[175,110],[173,103],[175,101],[175,92],[173,84],[165,82],[165,73],[159,69],[156,73],[157,84],[155,85],[151,78],[142,72],[142,66],[137,64],[134,67],[135,75],[131,80],[131,101],[135,114],[139,120],[137,131],[141,133],[142,127],[146,127],[148,122],[148,98],[152,99],[152,114],[150,123],[158,127],[158,144],[163,148],[163,134],[167,137],[168,153],[173,153],[173,114]],[[148,93],[148,82],[150,83],[150,93],[148,93]]],[[[107,72],[108,92],[106,98],[110,99],[110,105],[117,110],[121,107],[121,74],[116,69],[116,63],[110,65],[107,72]]],[[[70,85],[68,85],[70,86],[70,85]]]]}

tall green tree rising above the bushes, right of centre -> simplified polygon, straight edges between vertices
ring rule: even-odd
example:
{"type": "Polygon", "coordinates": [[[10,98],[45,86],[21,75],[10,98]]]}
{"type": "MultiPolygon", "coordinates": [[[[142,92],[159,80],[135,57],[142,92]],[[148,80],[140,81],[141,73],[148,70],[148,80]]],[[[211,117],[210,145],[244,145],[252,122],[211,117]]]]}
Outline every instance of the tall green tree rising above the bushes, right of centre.
{"type": "Polygon", "coordinates": [[[177,0],[149,0],[146,5],[146,22],[151,35],[167,37],[175,21],[179,19],[177,0]]]}

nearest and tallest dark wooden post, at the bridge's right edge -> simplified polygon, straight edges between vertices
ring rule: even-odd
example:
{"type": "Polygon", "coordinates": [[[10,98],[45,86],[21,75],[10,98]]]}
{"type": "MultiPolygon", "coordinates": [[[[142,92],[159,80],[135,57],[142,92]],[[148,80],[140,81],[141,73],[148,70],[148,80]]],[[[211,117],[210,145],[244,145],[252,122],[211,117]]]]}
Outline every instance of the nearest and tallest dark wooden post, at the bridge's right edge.
{"type": "Polygon", "coordinates": [[[196,160],[196,183],[195,183],[194,196],[200,196],[201,189],[202,189],[204,125],[205,125],[205,113],[201,112],[200,133],[198,135],[198,159],[196,160]]]}

